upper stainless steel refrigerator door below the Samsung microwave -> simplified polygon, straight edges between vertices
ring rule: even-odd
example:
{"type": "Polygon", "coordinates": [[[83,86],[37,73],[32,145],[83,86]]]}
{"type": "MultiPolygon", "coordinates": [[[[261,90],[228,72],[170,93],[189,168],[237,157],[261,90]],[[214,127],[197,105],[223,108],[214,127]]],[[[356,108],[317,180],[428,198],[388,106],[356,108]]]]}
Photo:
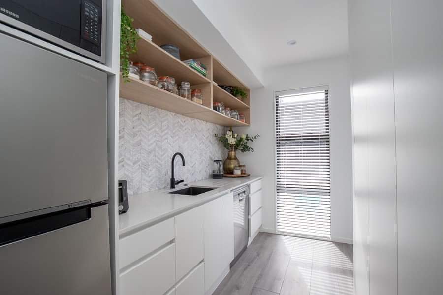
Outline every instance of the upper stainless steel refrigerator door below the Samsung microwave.
{"type": "Polygon", "coordinates": [[[0,218],[108,199],[106,74],[0,33],[0,218]]]}

